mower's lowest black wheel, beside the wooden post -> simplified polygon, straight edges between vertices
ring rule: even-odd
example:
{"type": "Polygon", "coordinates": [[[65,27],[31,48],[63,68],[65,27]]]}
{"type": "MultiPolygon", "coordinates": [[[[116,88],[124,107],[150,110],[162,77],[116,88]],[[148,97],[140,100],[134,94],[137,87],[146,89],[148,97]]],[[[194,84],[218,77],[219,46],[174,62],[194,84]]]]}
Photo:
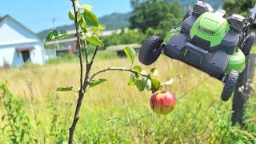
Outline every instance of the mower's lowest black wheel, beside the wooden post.
{"type": "Polygon", "coordinates": [[[234,88],[236,86],[236,83],[238,81],[238,71],[232,70],[229,75],[226,76],[224,83],[225,86],[222,90],[222,100],[228,101],[231,95],[234,92],[234,88]]]}

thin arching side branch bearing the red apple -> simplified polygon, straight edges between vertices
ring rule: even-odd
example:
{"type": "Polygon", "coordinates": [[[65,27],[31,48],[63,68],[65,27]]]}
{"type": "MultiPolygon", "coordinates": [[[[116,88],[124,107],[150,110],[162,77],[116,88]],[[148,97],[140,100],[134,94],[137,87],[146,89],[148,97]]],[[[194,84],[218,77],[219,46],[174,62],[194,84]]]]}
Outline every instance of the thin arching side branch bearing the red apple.
{"type": "Polygon", "coordinates": [[[104,69],[104,70],[99,70],[97,73],[94,73],[91,77],[90,77],[90,81],[95,77],[97,76],[98,74],[102,74],[106,71],[127,71],[127,72],[130,72],[130,73],[134,73],[134,74],[138,74],[138,75],[141,75],[142,77],[146,77],[148,78],[149,76],[146,75],[146,74],[140,74],[132,69],[129,69],[129,68],[126,68],[126,67],[109,67],[107,69],[104,69]]]}

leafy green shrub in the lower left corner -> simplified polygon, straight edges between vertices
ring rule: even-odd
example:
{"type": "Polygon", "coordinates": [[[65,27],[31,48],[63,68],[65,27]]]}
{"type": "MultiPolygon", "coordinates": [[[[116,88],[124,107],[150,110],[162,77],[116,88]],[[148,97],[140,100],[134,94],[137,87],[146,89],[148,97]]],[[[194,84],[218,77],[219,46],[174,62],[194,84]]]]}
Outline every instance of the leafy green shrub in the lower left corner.
{"type": "Polygon", "coordinates": [[[13,98],[7,89],[6,83],[0,85],[0,106],[1,108],[1,126],[2,134],[9,138],[6,141],[13,143],[33,142],[35,139],[30,135],[30,118],[22,110],[22,102],[13,98]]]}

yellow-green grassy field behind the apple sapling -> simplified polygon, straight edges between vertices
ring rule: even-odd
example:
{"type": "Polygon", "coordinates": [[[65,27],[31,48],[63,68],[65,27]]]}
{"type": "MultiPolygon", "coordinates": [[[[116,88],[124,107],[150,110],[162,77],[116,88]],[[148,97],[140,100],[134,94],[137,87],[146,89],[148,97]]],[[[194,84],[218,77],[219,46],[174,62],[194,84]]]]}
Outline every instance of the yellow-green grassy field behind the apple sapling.
{"type": "MultiPolygon", "coordinates": [[[[126,58],[100,59],[93,71],[108,66],[127,66],[127,63],[126,58]]],[[[239,126],[230,126],[231,101],[220,99],[222,82],[164,56],[145,69],[153,67],[158,67],[162,81],[174,78],[174,84],[166,88],[178,98],[177,107],[171,114],[154,114],[150,110],[150,94],[127,86],[130,74],[108,72],[101,75],[107,82],[86,93],[75,142],[256,142],[255,97],[247,106],[246,127],[239,129],[239,126]]],[[[34,143],[66,142],[78,95],[55,90],[59,86],[74,86],[78,90],[78,68],[78,62],[74,61],[0,70],[0,81],[7,81],[14,99],[22,103],[22,110],[30,119],[30,130],[24,139],[34,139],[34,143]]],[[[1,107],[2,114],[6,114],[4,106],[1,107]]],[[[0,124],[1,129],[4,122],[0,124]]],[[[3,131],[0,130],[0,143],[9,143],[10,132],[3,131]]]]}

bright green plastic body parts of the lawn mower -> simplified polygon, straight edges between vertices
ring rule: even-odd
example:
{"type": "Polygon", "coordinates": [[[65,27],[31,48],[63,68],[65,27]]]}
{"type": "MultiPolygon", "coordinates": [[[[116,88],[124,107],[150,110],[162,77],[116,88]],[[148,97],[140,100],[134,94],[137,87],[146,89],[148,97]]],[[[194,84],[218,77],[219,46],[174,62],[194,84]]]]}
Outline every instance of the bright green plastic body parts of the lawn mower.
{"type": "MultiPolygon", "coordinates": [[[[163,44],[166,45],[167,42],[170,41],[175,34],[180,34],[181,27],[170,30],[169,34],[167,34],[163,44]]],[[[226,33],[230,30],[230,25],[227,22],[226,18],[222,18],[214,13],[205,13],[202,14],[190,30],[190,37],[193,38],[194,35],[197,35],[199,38],[210,41],[210,46],[217,46],[222,42],[222,38],[225,37],[226,33]],[[199,29],[201,27],[201,30],[199,29]],[[205,28],[206,30],[202,30],[205,28]]],[[[242,53],[242,50],[238,48],[238,50],[230,55],[230,61],[228,66],[226,67],[225,74],[230,74],[231,70],[237,70],[238,72],[242,72],[245,67],[246,57],[242,53]]]]}

